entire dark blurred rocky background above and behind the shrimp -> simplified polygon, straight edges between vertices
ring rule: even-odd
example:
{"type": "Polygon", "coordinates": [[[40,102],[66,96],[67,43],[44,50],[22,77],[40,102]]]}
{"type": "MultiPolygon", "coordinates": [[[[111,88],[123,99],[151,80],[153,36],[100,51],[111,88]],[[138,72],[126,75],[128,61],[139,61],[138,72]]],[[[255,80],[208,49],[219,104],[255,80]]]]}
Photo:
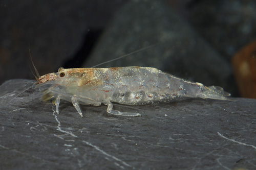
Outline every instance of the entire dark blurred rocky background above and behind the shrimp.
{"type": "Polygon", "coordinates": [[[254,0],[2,0],[0,84],[34,79],[29,47],[45,75],[59,67],[92,67],[155,44],[99,67],[156,67],[253,98],[255,7],[254,0]]]}

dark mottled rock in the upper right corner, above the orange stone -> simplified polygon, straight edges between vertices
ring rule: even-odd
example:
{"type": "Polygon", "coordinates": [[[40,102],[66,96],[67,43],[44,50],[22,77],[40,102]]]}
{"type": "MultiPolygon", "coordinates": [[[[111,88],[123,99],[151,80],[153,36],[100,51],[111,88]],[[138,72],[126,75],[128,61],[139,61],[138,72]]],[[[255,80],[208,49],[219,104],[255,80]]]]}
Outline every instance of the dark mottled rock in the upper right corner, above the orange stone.
{"type": "Polygon", "coordinates": [[[205,0],[191,7],[194,29],[228,60],[256,39],[256,1],[205,0]]]}

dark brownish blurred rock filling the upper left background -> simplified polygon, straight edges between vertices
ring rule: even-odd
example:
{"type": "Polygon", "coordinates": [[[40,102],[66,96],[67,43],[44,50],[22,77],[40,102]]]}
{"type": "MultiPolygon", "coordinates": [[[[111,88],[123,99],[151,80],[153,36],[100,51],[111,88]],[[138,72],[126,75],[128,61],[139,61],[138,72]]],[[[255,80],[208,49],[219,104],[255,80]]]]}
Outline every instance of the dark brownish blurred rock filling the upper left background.
{"type": "MultiPolygon", "coordinates": [[[[34,79],[29,68],[29,45],[40,75],[65,66],[80,49],[88,53],[97,34],[125,2],[1,1],[0,83],[13,78],[34,79]]],[[[81,58],[72,60],[72,66],[85,59],[81,58]]]]}

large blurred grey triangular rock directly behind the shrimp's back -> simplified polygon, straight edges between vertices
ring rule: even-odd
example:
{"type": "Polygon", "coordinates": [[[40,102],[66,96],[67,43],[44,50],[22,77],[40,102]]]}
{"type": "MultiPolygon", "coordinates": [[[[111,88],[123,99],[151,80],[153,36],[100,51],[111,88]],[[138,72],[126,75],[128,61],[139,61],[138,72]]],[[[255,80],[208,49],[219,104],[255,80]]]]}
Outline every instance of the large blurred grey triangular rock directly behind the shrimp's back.
{"type": "Polygon", "coordinates": [[[161,1],[131,1],[123,6],[83,67],[92,67],[152,44],[157,45],[99,67],[156,67],[206,86],[222,86],[234,93],[230,63],[161,1]]]}

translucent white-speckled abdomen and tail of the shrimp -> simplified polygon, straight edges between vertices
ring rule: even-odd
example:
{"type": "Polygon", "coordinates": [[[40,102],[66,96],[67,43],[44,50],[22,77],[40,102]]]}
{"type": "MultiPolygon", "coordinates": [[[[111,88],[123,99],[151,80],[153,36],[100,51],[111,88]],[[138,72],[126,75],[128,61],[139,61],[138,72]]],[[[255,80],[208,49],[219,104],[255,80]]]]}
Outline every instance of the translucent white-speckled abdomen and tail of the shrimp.
{"type": "MultiPolygon", "coordinates": [[[[219,86],[206,87],[150,67],[119,68],[121,86],[116,86],[111,102],[126,105],[143,105],[170,102],[177,98],[203,98],[227,100],[230,96],[219,86]],[[136,71],[135,71],[136,70],[136,71]],[[144,76],[143,76],[144,75],[144,76]]],[[[115,82],[112,82],[115,84],[115,82]]],[[[120,85],[120,82],[118,83],[120,85]]]]}

